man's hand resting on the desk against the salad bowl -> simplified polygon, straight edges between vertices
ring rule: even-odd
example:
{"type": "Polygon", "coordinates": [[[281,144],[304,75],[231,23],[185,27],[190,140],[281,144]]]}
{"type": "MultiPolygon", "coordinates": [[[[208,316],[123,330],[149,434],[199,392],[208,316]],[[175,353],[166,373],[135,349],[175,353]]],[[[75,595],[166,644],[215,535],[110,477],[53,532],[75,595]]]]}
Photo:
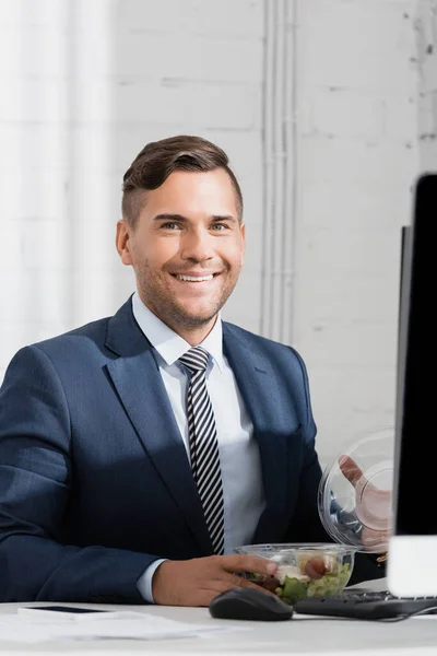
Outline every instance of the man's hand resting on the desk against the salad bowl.
{"type": "Polygon", "coordinates": [[[235,587],[263,589],[270,595],[268,589],[238,574],[273,576],[276,570],[276,563],[247,554],[168,560],[153,575],[152,595],[156,604],[166,606],[209,606],[217,595],[235,587]]]}

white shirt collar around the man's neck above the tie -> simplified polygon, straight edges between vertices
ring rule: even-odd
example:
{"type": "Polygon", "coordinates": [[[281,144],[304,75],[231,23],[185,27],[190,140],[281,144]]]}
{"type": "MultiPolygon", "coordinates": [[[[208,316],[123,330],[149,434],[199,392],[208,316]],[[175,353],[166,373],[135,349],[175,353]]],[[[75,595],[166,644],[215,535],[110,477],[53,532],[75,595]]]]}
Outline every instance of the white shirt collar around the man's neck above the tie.
{"type": "MultiPolygon", "coordinates": [[[[191,344],[144,305],[138,292],[132,296],[132,312],[141,330],[167,364],[174,364],[191,348],[191,344]]],[[[220,314],[211,332],[198,345],[203,347],[220,371],[223,371],[223,331],[220,314]]]]}

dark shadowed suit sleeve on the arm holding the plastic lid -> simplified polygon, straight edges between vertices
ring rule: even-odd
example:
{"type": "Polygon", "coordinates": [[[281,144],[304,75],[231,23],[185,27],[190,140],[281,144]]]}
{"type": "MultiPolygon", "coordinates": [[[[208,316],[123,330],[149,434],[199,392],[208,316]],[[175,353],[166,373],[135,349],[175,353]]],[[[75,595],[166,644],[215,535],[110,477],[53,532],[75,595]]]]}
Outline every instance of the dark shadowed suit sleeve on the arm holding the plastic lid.
{"type": "MultiPolygon", "coordinates": [[[[317,429],[309,399],[308,375],[302,358],[298,353],[296,355],[303,372],[307,415],[304,430],[303,465],[299,473],[298,499],[285,536],[285,541],[332,542],[332,538],[324,530],[318,509],[318,492],[322,472],[315,447],[317,429]]],[[[380,566],[377,563],[376,557],[366,553],[356,553],[350,585],[382,576],[385,576],[385,566],[380,566]]]]}

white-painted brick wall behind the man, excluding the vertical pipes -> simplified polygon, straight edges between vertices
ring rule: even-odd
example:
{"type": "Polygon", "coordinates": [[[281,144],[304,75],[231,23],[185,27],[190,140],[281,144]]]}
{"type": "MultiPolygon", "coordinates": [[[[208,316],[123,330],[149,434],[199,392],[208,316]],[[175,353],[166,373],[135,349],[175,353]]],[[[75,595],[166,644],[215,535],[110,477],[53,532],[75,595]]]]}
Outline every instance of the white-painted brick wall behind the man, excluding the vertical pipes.
{"type": "MultiPolygon", "coordinates": [[[[174,133],[215,140],[240,178],[247,263],[224,315],[259,330],[271,1],[0,0],[0,379],[22,344],[131,292],[114,248],[121,176],[174,133]]],[[[436,153],[435,49],[420,47],[435,4],[297,5],[292,333],[322,460],[393,421],[400,226],[436,153]]]]}

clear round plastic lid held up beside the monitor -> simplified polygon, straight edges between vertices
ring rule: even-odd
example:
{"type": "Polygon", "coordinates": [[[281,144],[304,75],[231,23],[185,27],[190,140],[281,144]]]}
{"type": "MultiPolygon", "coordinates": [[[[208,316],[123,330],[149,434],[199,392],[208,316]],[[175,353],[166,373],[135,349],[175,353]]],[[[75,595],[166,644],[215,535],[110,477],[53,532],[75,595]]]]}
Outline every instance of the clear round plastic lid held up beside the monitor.
{"type": "Polygon", "coordinates": [[[357,551],[387,551],[392,527],[393,429],[346,446],[324,469],[319,515],[331,538],[357,551]]]}

